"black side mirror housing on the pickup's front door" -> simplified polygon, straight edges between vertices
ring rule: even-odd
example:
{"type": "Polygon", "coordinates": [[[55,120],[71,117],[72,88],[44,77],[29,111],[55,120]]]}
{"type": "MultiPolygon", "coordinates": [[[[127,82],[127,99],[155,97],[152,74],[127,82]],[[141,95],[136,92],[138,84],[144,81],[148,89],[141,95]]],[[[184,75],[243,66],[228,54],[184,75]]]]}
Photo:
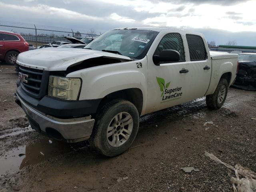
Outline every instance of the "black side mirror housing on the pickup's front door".
{"type": "Polygon", "coordinates": [[[176,50],[166,49],[160,52],[160,55],[153,55],[153,62],[159,66],[160,62],[176,62],[180,60],[180,53],[176,50]]]}

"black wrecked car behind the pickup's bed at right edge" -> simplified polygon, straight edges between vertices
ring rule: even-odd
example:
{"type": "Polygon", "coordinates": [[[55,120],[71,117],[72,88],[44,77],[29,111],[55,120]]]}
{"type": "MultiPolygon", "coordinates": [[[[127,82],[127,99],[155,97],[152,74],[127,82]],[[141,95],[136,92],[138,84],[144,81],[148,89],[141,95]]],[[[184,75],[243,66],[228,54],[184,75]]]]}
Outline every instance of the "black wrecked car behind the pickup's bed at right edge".
{"type": "Polygon", "coordinates": [[[241,53],[238,73],[233,86],[244,90],[256,90],[256,53],[241,53]]]}

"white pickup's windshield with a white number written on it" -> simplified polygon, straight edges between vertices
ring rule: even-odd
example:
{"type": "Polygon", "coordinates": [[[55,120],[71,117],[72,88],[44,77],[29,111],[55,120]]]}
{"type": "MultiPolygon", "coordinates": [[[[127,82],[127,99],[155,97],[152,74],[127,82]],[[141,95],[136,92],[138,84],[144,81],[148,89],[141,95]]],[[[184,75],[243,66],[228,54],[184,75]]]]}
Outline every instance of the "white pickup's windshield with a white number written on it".
{"type": "Polygon", "coordinates": [[[158,32],[150,30],[110,30],[85,48],[142,59],[146,56],[157,34],[158,32]]]}

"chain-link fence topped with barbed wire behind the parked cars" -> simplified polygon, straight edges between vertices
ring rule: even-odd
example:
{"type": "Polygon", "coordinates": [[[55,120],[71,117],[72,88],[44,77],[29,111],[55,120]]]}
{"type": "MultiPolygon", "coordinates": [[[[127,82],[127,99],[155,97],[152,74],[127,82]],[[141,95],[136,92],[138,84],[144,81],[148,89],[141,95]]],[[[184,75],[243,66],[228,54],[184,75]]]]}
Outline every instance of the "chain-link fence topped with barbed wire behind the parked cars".
{"type": "Polygon", "coordinates": [[[36,47],[53,41],[69,42],[66,38],[64,38],[65,36],[81,39],[84,37],[97,37],[101,35],[101,32],[96,32],[94,29],[78,30],[6,21],[0,21],[0,30],[18,33],[22,35],[26,41],[36,47]]]}

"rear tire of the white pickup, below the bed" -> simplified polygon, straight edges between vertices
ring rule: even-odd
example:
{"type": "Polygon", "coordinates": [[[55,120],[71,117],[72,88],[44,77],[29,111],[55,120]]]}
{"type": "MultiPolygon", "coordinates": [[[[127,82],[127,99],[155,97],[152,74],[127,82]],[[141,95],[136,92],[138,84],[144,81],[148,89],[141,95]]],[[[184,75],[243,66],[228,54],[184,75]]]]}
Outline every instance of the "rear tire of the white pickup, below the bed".
{"type": "Polygon", "coordinates": [[[206,96],[206,105],[210,109],[221,108],[226,100],[227,94],[228,94],[228,82],[226,79],[220,79],[220,82],[219,82],[214,94],[206,96]],[[222,98],[222,100],[220,100],[220,92],[224,91],[224,86],[225,86],[225,94],[223,94],[223,98],[222,98]]]}

